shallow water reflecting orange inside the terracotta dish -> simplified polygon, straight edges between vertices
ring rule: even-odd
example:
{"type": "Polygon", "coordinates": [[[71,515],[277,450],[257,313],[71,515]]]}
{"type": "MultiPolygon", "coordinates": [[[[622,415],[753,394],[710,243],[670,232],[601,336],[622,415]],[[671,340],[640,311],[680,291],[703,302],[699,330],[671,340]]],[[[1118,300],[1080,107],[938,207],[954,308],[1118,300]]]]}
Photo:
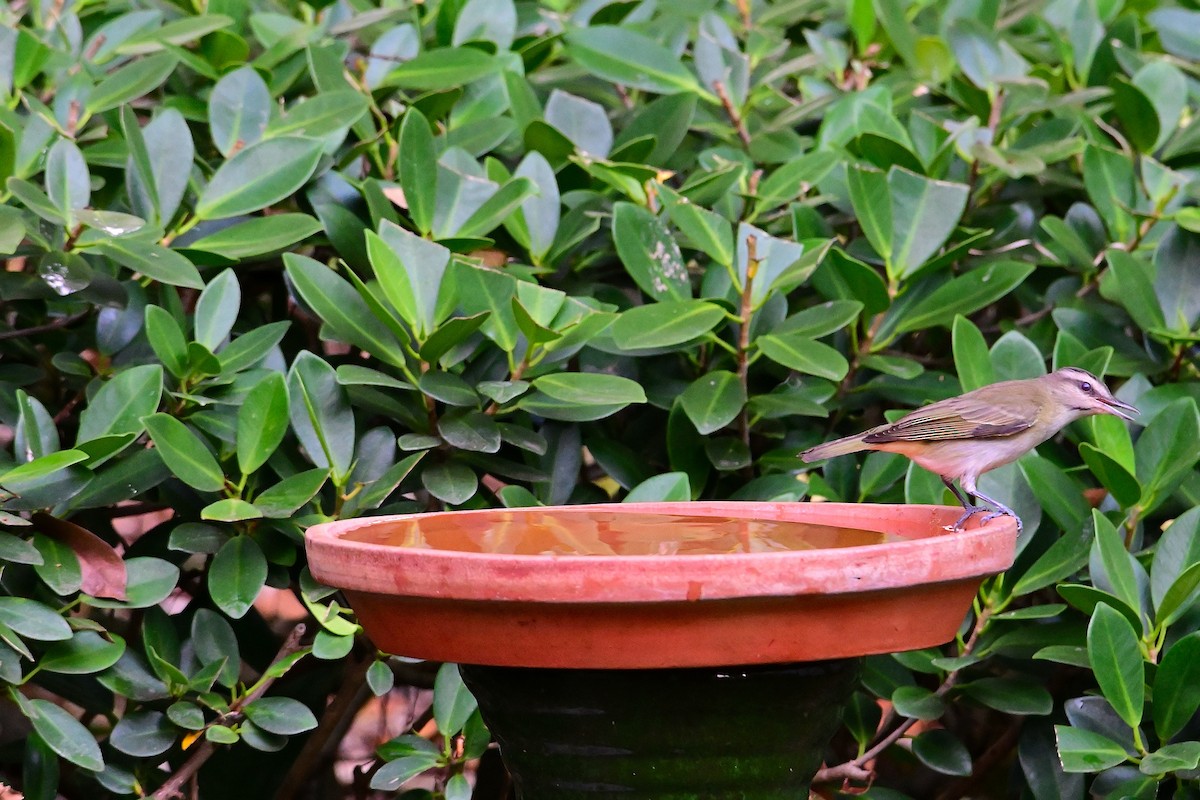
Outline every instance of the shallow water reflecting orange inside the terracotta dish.
{"type": "Polygon", "coordinates": [[[514,555],[713,555],[862,547],[899,541],[876,530],[784,519],[535,509],[442,515],[355,528],[347,541],[514,555]]]}

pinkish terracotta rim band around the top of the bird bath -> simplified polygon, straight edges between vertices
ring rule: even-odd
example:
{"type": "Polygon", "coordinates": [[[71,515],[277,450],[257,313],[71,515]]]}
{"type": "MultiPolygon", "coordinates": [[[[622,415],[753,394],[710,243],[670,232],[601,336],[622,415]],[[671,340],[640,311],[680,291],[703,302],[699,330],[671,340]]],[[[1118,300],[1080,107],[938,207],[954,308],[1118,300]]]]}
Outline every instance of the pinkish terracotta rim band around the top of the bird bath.
{"type": "Polygon", "coordinates": [[[960,509],[848,503],[624,503],[478,509],[360,517],[313,525],[306,543],[313,576],[352,591],[509,602],[664,602],[832,595],[983,578],[1012,566],[1016,525],[1009,517],[947,530],[960,509]],[[346,534],[430,516],[504,512],[626,512],[796,521],[896,534],[901,541],[760,553],[512,554],[352,541],[346,534]],[[373,572],[372,572],[373,571],[373,572]],[[379,583],[379,572],[392,585],[379,583]],[[641,581],[630,581],[637,576],[641,581]],[[698,594],[697,594],[698,593],[698,594]]]}

